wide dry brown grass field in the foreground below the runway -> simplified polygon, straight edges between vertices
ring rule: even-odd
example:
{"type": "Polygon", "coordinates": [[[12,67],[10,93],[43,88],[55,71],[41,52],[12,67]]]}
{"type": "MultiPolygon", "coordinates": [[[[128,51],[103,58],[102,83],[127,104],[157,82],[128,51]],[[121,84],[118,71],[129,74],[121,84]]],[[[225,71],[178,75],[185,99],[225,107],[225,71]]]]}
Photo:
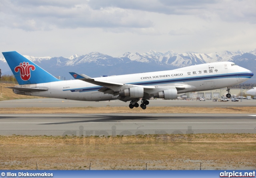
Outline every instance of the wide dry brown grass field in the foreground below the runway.
{"type": "Polygon", "coordinates": [[[256,134],[0,136],[0,169],[254,169],[256,134]]]}

